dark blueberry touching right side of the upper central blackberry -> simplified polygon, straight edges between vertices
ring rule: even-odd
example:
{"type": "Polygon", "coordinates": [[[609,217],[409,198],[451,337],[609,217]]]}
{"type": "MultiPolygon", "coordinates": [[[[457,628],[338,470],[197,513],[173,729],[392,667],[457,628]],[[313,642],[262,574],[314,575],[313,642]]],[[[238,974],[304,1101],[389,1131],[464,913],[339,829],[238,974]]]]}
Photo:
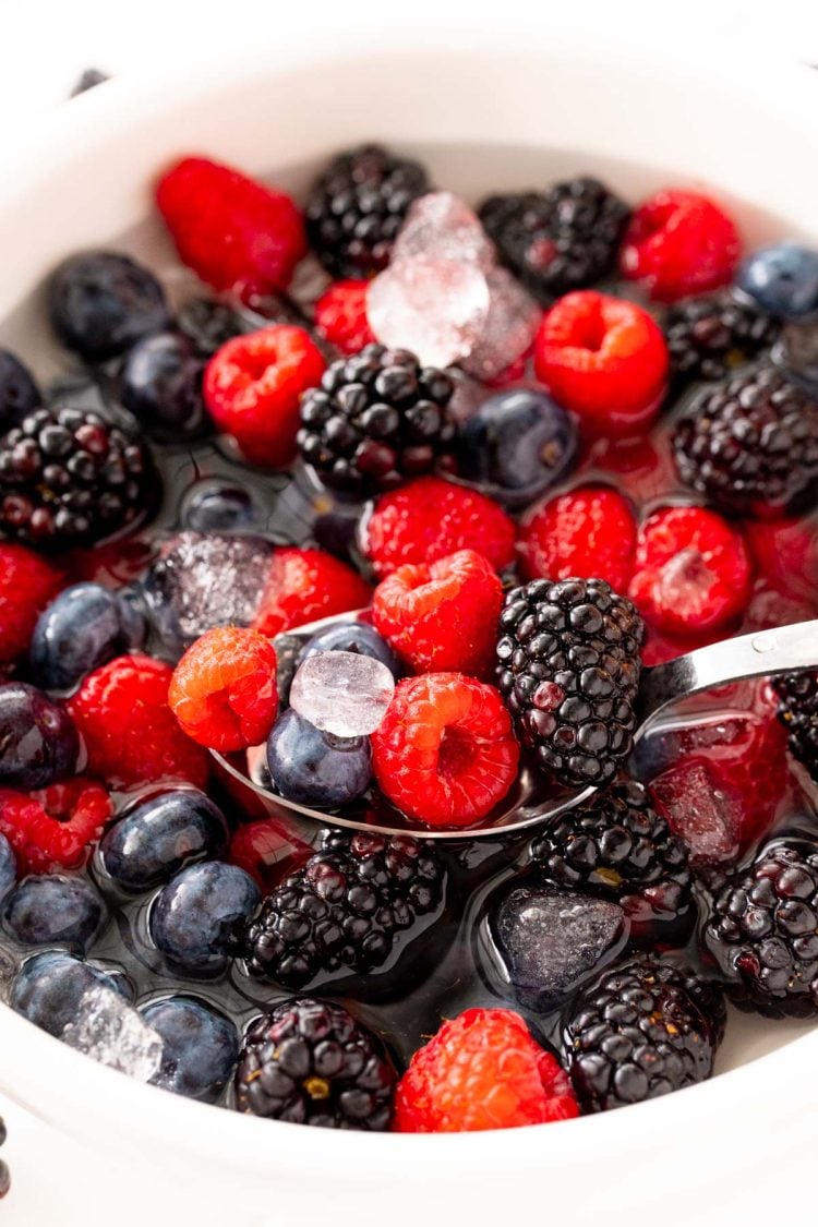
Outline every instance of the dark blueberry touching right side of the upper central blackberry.
{"type": "Polygon", "coordinates": [[[574,463],[576,422],[545,391],[498,391],[461,428],[457,472],[510,508],[526,507],[574,463]]]}

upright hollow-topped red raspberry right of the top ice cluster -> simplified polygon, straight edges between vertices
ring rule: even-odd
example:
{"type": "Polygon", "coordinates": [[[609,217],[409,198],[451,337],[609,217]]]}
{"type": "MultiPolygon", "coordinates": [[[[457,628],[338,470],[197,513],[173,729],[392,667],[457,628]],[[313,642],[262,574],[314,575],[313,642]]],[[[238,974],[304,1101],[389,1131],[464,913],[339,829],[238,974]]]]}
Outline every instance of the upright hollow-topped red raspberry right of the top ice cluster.
{"type": "Polygon", "coordinates": [[[667,342],[635,303],[595,290],[565,294],[546,314],[535,369],[592,434],[644,432],[667,384],[667,342]]]}

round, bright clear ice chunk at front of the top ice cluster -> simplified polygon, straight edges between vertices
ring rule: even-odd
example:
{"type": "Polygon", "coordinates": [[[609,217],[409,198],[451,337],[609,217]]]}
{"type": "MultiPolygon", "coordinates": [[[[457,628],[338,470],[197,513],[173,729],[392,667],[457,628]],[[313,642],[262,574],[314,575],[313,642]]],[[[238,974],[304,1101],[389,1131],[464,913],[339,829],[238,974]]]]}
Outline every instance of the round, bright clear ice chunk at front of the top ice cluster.
{"type": "Polygon", "coordinates": [[[489,293],[476,264],[418,256],[390,264],[369,286],[367,317],[384,345],[448,367],[467,357],[483,331],[489,293]]]}

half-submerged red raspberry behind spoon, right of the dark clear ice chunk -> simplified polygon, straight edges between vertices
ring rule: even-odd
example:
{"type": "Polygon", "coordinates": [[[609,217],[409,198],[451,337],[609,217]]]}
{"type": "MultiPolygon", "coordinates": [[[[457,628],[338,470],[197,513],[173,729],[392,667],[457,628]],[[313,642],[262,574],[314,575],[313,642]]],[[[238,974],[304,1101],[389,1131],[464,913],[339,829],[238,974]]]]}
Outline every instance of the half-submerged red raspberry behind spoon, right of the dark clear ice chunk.
{"type": "Polygon", "coordinates": [[[271,639],[293,626],[369,605],[372,589],[324,550],[276,550],[253,623],[271,639]]]}

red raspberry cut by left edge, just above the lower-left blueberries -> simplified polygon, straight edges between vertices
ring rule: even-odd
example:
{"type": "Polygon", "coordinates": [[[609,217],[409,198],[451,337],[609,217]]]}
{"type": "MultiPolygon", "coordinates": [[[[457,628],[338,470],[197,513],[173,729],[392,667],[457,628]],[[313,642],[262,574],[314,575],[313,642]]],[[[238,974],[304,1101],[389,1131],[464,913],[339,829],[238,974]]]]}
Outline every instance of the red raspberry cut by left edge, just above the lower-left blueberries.
{"type": "Polygon", "coordinates": [[[0,789],[0,833],[15,850],[20,876],[80,869],[112,814],[104,788],[81,775],[36,793],[0,789]]]}

